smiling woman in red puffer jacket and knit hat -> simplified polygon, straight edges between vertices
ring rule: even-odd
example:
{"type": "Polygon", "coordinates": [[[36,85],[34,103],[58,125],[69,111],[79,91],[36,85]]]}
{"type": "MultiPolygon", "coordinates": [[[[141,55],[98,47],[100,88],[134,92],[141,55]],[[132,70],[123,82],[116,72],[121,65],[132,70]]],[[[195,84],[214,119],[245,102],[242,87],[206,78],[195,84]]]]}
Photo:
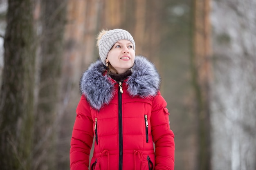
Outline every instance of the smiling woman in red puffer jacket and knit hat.
{"type": "Polygon", "coordinates": [[[101,31],[101,60],[80,81],[70,149],[71,170],[173,170],[174,134],[160,77],[125,30],[101,31]],[[153,143],[155,144],[155,150],[153,143]]]}

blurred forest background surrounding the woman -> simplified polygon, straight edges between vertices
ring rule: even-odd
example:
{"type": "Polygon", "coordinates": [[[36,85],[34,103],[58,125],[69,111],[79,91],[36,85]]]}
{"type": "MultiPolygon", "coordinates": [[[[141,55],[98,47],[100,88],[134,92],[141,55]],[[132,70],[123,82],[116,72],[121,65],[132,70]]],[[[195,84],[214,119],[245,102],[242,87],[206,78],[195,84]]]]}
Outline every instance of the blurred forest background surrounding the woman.
{"type": "Polygon", "coordinates": [[[0,0],[0,166],[69,170],[81,73],[128,30],[162,77],[175,170],[256,170],[256,0],[0,0]]]}

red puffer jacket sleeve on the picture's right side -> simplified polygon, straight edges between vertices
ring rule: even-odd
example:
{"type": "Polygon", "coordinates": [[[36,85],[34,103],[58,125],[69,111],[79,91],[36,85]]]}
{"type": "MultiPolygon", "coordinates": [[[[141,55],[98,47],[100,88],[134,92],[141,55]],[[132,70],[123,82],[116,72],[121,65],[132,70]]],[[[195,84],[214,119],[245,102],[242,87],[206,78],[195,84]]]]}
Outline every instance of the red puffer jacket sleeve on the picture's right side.
{"type": "Polygon", "coordinates": [[[160,92],[153,99],[150,122],[155,143],[155,170],[174,170],[174,134],[170,130],[166,101],[160,92]]]}

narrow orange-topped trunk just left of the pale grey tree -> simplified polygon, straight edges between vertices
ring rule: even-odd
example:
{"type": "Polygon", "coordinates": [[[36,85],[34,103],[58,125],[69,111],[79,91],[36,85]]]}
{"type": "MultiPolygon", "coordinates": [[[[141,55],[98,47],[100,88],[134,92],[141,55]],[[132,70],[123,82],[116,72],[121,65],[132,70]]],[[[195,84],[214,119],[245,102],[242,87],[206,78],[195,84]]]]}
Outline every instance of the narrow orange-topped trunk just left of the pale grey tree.
{"type": "Polygon", "coordinates": [[[198,170],[211,170],[209,111],[210,0],[194,0],[192,79],[198,113],[198,170]]]}

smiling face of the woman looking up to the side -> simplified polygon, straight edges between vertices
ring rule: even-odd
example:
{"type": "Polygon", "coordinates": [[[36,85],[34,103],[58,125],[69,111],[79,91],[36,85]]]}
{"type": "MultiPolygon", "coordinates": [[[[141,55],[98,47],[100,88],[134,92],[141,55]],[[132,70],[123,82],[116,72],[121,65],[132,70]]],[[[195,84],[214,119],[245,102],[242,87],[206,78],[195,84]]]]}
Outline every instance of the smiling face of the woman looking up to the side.
{"type": "Polygon", "coordinates": [[[109,51],[107,59],[118,74],[125,73],[134,64],[135,51],[128,40],[119,40],[109,51]]]}

